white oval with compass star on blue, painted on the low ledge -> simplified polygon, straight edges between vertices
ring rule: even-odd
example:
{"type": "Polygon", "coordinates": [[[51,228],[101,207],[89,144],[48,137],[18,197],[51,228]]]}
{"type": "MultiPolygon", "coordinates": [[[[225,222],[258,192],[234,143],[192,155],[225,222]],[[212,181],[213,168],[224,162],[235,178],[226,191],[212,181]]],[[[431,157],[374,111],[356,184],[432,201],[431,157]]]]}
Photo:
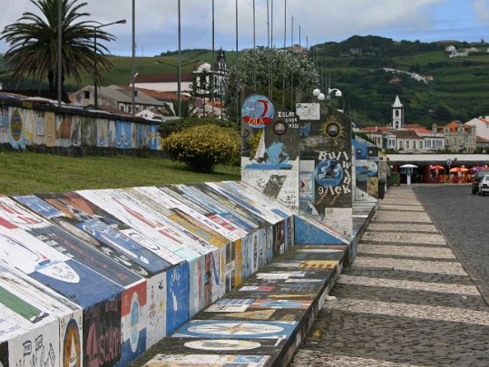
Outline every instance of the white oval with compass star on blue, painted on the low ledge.
{"type": "Polygon", "coordinates": [[[215,323],[200,324],[189,327],[191,333],[204,333],[211,335],[256,335],[267,333],[280,333],[283,327],[270,324],[251,323],[215,323]]]}

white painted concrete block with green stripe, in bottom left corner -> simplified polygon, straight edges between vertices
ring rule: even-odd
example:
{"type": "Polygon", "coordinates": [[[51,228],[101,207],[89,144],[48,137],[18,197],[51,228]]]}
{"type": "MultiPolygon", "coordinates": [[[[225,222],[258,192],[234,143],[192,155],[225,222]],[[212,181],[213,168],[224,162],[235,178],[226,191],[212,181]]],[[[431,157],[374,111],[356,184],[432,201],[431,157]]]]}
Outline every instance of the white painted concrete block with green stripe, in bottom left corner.
{"type": "MultiPolygon", "coordinates": [[[[25,365],[39,366],[63,366],[64,361],[77,362],[71,365],[81,365],[81,308],[9,266],[0,266],[0,294],[0,306],[14,313],[15,317],[11,321],[19,323],[18,337],[13,338],[11,335],[7,338],[5,333],[3,337],[0,336],[0,342],[8,340],[4,346],[9,354],[5,357],[5,366],[9,363],[24,365],[19,364],[21,361],[28,362],[25,365]],[[56,328],[51,325],[53,322],[56,328]],[[46,324],[50,326],[45,327],[46,324]]],[[[2,318],[7,317],[7,312],[0,314],[2,318]]],[[[0,326],[0,334],[2,330],[5,332],[5,324],[0,326]]]]}

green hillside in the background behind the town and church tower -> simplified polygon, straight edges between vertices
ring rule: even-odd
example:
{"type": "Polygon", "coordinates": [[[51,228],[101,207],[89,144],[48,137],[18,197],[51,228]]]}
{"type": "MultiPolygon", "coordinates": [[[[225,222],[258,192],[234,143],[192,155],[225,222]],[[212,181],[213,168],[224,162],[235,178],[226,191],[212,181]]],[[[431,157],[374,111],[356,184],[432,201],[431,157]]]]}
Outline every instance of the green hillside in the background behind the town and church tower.
{"type": "MultiPolygon", "coordinates": [[[[489,115],[489,48],[488,43],[421,43],[419,41],[394,42],[377,36],[353,36],[341,43],[321,43],[313,46],[314,56],[321,71],[328,73],[331,87],[344,94],[347,112],[361,126],[387,124],[391,104],[399,95],[405,104],[406,122],[431,126],[433,122],[467,121],[473,117],[489,115]],[[469,57],[449,58],[447,45],[457,50],[476,47],[484,50],[469,57]],[[393,68],[420,75],[433,75],[425,84],[416,82],[405,73],[385,72],[393,68]],[[391,83],[393,76],[402,79],[391,83]]],[[[227,53],[233,64],[235,53],[227,53]]],[[[154,57],[136,57],[136,70],[140,73],[176,72],[177,54],[161,53],[154,57]]],[[[191,72],[201,62],[210,63],[209,50],[186,50],[181,53],[182,72],[191,72]]],[[[131,57],[110,56],[111,72],[104,75],[105,84],[128,84],[131,78],[131,57]]],[[[0,58],[0,82],[6,88],[15,88],[8,82],[5,63],[0,58]]],[[[69,91],[93,84],[87,75],[77,84],[67,81],[69,91]]],[[[38,89],[39,83],[26,81],[20,88],[38,89]]],[[[42,87],[42,86],[41,86],[42,87]]],[[[324,89],[324,87],[323,87],[324,89]]],[[[339,105],[340,101],[335,101],[339,105]]]]}

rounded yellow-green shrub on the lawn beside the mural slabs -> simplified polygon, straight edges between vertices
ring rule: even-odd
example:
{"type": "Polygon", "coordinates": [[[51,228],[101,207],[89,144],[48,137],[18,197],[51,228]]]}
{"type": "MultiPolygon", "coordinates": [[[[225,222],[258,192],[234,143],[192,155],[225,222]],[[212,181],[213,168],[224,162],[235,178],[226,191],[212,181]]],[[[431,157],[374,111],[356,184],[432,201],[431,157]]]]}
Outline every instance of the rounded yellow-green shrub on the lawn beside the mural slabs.
{"type": "Polygon", "coordinates": [[[210,172],[216,164],[240,158],[240,133],[218,125],[202,125],[171,134],[161,140],[161,149],[171,159],[185,162],[197,172],[210,172]]]}

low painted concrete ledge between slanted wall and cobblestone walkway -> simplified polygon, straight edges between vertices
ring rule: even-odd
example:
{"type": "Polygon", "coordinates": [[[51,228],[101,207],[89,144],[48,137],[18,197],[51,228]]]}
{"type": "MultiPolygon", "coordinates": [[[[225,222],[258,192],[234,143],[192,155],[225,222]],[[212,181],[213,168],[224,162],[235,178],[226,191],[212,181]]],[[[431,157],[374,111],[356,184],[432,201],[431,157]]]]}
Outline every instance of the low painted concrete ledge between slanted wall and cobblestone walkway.
{"type": "Polygon", "coordinates": [[[326,302],[346,255],[347,246],[289,249],[131,366],[287,366],[326,302]]]}

